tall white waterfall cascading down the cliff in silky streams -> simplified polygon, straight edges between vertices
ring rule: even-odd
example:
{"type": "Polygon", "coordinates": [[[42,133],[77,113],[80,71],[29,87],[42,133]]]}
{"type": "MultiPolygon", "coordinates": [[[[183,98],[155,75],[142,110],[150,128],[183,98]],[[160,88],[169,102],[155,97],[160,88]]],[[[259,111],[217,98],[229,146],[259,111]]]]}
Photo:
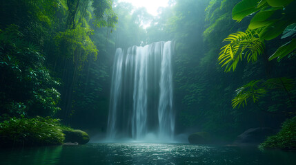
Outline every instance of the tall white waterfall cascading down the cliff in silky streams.
{"type": "Polygon", "coordinates": [[[173,140],[171,41],[115,53],[108,140],[173,140]]]}

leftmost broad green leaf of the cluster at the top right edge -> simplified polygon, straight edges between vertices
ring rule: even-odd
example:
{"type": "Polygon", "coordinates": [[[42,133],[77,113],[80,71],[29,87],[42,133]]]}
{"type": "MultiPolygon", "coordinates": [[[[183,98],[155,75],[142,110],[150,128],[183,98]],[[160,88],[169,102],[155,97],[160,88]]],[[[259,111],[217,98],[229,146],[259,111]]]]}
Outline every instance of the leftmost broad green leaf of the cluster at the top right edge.
{"type": "Polygon", "coordinates": [[[259,8],[257,8],[260,1],[261,0],[243,0],[237,3],[237,5],[235,5],[233,8],[233,19],[241,21],[241,19],[244,19],[244,17],[262,9],[264,5],[261,5],[259,8]]]}

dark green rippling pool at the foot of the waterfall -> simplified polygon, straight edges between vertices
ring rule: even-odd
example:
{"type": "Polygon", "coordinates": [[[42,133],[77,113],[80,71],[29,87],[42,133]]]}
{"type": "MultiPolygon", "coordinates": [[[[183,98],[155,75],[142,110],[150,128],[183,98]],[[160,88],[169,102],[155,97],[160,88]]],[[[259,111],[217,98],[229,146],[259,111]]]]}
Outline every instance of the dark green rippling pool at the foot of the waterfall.
{"type": "Polygon", "coordinates": [[[296,164],[295,152],[236,146],[92,143],[0,149],[0,164],[296,164]]]}

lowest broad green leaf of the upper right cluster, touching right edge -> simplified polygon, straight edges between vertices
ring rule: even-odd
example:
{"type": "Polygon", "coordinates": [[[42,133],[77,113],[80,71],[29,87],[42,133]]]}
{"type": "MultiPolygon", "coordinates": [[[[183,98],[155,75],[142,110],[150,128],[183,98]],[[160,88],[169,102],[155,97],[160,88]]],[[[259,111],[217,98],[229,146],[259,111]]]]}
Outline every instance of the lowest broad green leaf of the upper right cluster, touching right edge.
{"type": "Polygon", "coordinates": [[[291,52],[296,50],[296,39],[292,39],[292,41],[286,43],[285,45],[282,45],[279,47],[279,49],[268,58],[269,61],[273,60],[274,58],[277,58],[277,61],[282,59],[284,56],[287,56],[291,52]]]}

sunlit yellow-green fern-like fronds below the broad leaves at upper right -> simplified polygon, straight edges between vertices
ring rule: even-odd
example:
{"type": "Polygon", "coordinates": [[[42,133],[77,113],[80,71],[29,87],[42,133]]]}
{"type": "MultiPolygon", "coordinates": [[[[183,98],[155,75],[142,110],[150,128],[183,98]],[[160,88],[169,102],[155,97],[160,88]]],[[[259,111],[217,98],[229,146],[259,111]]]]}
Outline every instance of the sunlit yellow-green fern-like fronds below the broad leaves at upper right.
{"type": "Polygon", "coordinates": [[[257,61],[258,56],[264,53],[264,43],[259,40],[259,33],[256,30],[246,30],[246,32],[236,32],[230,34],[224,41],[230,41],[228,45],[221,48],[219,54],[219,64],[226,66],[225,72],[231,69],[235,71],[237,63],[242,58],[247,58],[248,63],[257,61]]]}

